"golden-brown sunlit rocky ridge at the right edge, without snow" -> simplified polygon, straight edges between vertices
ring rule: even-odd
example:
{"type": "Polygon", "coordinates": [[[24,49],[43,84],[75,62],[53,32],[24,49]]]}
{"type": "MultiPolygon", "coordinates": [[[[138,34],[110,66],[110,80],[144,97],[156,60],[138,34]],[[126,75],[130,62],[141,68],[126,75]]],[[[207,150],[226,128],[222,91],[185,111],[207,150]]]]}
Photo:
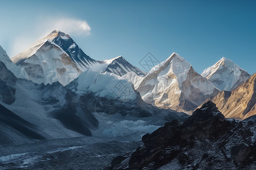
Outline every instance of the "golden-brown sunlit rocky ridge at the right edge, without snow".
{"type": "Polygon", "coordinates": [[[221,91],[210,97],[227,118],[247,118],[256,114],[256,73],[231,92],[221,91]]]}

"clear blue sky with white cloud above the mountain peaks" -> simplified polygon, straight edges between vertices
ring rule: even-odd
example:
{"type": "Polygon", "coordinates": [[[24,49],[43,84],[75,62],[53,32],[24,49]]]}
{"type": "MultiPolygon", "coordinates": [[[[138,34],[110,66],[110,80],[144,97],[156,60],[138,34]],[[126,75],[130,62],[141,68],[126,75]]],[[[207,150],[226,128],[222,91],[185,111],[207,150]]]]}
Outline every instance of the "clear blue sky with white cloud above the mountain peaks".
{"type": "Polygon", "coordinates": [[[2,0],[0,45],[13,57],[53,29],[60,29],[97,60],[121,55],[142,68],[139,61],[148,52],[159,61],[176,52],[198,73],[226,57],[253,74],[255,9],[256,1],[236,0],[2,0]]]}

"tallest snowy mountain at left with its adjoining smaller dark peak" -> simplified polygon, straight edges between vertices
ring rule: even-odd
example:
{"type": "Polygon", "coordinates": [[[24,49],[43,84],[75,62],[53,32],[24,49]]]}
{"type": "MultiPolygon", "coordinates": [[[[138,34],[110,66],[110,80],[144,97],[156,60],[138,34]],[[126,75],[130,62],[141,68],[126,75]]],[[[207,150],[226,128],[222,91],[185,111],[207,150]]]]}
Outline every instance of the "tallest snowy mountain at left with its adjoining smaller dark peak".
{"type": "MultiPolygon", "coordinates": [[[[2,49],[1,51],[4,53],[2,49]]],[[[17,67],[10,61],[5,63],[18,78],[39,84],[52,84],[58,81],[66,86],[85,70],[109,72],[118,76],[129,72],[139,76],[146,75],[122,56],[95,61],[87,56],[69,35],[59,30],[52,31],[11,60],[17,67]]]]}

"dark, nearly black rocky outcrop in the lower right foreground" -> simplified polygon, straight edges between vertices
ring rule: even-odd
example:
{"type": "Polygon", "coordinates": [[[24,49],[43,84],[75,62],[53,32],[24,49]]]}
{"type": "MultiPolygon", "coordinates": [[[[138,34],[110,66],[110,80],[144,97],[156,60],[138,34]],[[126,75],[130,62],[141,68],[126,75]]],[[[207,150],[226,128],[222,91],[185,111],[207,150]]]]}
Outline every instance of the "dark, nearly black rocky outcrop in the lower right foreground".
{"type": "Polygon", "coordinates": [[[256,123],[227,120],[211,101],[180,125],[167,122],[105,169],[254,169],[256,123]]]}

